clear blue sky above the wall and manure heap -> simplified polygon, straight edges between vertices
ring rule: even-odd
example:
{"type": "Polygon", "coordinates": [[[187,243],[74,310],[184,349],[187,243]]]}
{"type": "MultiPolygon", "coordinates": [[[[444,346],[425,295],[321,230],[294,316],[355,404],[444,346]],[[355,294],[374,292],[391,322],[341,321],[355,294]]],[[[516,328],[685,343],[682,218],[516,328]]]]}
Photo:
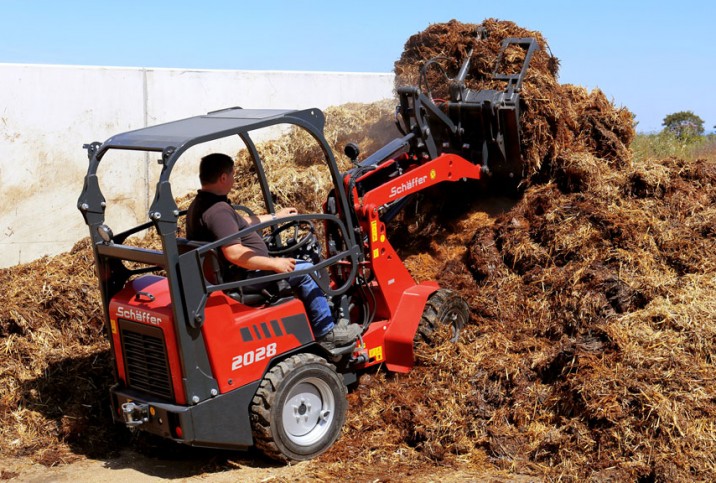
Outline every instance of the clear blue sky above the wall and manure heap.
{"type": "MultiPolygon", "coordinates": [[[[716,125],[716,2],[0,0],[0,63],[391,72],[408,37],[452,18],[540,31],[560,82],[598,87],[661,129],[716,125]]],[[[300,95],[300,93],[296,93],[300,95]]]]}

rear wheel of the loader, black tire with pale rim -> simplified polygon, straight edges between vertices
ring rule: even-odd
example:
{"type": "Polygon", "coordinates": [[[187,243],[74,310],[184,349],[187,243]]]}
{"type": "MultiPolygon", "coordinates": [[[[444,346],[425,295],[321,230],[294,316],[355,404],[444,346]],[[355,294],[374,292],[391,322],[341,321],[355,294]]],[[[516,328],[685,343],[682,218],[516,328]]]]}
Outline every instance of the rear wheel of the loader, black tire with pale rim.
{"type": "Polygon", "coordinates": [[[314,354],[297,354],[277,364],[251,403],[256,447],[283,462],[323,453],[340,436],[347,392],[335,367],[314,354]]]}

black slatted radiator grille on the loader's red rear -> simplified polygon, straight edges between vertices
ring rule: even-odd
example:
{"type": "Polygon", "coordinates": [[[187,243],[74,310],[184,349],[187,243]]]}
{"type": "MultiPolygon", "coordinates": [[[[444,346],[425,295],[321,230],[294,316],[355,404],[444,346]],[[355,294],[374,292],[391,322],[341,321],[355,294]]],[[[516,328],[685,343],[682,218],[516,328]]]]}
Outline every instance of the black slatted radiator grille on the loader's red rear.
{"type": "Polygon", "coordinates": [[[127,385],[166,399],[172,399],[172,381],[159,327],[120,320],[122,352],[127,385]]]}

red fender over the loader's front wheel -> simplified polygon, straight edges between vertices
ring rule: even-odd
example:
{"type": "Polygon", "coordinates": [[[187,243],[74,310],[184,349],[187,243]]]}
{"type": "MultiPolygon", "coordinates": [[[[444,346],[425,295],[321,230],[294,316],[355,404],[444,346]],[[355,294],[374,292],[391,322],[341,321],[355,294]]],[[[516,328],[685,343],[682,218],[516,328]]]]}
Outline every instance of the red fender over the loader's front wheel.
{"type": "Polygon", "coordinates": [[[405,373],[413,368],[413,338],[428,297],[438,288],[435,282],[423,282],[403,292],[395,316],[385,333],[385,365],[388,370],[405,373]]]}

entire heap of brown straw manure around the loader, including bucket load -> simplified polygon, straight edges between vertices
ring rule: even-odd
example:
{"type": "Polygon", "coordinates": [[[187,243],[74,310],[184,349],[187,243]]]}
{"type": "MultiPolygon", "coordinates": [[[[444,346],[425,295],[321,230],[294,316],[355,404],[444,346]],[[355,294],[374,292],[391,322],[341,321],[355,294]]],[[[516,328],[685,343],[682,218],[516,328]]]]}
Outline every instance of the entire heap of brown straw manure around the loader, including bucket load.
{"type": "MultiPolygon", "coordinates": [[[[539,33],[481,26],[477,58],[494,59],[505,36],[542,47],[524,85],[526,188],[506,199],[438,187],[391,227],[416,279],[458,291],[471,324],[456,345],[421,347],[409,374],[363,374],[342,438],[304,471],[390,479],[439,465],[572,481],[713,480],[716,162],[632,162],[626,109],[560,85],[539,33]]],[[[459,59],[476,27],[452,21],[411,37],[398,78],[436,53],[459,59]]],[[[474,62],[471,76],[491,71],[474,62]]],[[[334,151],[351,132],[366,153],[380,146],[389,111],[329,109],[334,151]]],[[[299,141],[291,133],[261,149],[281,167],[269,168],[286,188],[278,203],[315,209],[327,180],[299,141]]],[[[236,200],[252,196],[237,186],[236,200]]],[[[90,258],[85,241],[0,271],[5,455],[50,464],[125,438],[104,412],[111,376],[90,258]]]]}

